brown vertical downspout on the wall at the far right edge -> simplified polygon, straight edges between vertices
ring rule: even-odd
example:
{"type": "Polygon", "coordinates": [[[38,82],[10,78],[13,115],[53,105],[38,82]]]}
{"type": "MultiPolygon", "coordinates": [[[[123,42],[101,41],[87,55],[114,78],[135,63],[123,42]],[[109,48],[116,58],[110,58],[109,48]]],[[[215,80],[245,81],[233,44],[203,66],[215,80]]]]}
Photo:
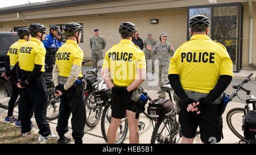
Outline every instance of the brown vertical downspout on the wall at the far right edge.
{"type": "Polygon", "coordinates": [[[253,2],[252,2],[252,0],[249,0],[248,3],[249,3],[249,13],[250,13],[249,65],[256,69],[256,65],[252,63],[252,59],[253,59],[253,2]]]}

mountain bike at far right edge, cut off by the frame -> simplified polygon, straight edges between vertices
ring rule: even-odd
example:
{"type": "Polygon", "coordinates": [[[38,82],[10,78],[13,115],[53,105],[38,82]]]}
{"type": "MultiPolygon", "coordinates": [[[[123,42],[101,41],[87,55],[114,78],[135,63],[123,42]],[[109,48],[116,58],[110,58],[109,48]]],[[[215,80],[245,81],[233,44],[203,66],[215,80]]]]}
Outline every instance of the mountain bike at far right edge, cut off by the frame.
{"type": "Polygon", "coordinates": [[[256,97],[254,95],[251,95],[251,91],[248,89],[245,89],[243,87],[243,84],[247,83],[250,81],[250,77],[253,76],[253,73],[251,73],[249,76],[247,76],[240,84],[238,85],[233,85],[234,92],[232,95],[230,95],[229,102],[232,101],[234,97],[237,97],[238,99],[241,100],[241,103],[245,105],[245,108],[232,108],[228,113],[226,114],[226,123],[228,124],[229,129],[236,135],[239,139],[242,141],[245,141],[246,143],[250,143],[250,141],[246,140],[245,137],[243,136],[243,118],[245,118],[247,112],[249,110],[253,110],[253,103],[255,105],[256,102],[256,97]],[[242,100],[238,96],[238,91],[245,91],[246,93],[246,100],[242,100]]]}

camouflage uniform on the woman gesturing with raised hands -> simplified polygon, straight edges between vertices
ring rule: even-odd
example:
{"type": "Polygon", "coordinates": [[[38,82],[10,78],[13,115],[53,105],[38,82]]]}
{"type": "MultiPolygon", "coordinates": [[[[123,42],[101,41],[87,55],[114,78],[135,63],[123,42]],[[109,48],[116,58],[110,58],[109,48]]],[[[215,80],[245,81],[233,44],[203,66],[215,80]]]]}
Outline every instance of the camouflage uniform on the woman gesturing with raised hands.
{"type": "Polygon", "coordinates": [[[157,43],[152,49],[152,53],[156,54],[156,60],[159,60],[159,86],[162,86],[169,82],[168,70],[170,64],[170,57],[174,55],[174,50],[171,49],[171,44],[165,42],[163,45],[161,42],[157,43]]]}

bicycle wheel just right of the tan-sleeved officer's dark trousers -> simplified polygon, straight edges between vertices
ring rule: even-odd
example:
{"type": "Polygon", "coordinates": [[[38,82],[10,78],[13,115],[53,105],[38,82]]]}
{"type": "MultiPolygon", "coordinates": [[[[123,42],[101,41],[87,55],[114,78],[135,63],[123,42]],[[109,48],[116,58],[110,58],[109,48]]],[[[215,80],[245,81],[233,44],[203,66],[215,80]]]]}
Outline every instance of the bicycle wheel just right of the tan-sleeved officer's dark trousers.
{"type": "Polygon", "coordinates": [[[102,107],[97,106],[94,100],[94,91],[85,97],[85,110],[85,124],[90,128],[96,127],[101,119],[102,107]]]}

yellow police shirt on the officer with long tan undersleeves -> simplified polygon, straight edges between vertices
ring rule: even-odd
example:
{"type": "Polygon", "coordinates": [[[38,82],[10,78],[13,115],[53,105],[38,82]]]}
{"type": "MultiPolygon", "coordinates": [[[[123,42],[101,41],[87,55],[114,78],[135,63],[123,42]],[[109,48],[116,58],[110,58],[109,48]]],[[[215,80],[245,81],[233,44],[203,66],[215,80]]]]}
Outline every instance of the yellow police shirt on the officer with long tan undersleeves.
{"type": "MultiPolygon", "coordinates": [[[[60,76],[69,77],[72,65],[82,66],[82,60],[84,58],[84,52],[73,40],[67,40],[64,45],[62,45],[57,51],[56,64],[59,68],[60,76]]],[[[82,77],[80,71],[79,77],[82,77]]]]}

